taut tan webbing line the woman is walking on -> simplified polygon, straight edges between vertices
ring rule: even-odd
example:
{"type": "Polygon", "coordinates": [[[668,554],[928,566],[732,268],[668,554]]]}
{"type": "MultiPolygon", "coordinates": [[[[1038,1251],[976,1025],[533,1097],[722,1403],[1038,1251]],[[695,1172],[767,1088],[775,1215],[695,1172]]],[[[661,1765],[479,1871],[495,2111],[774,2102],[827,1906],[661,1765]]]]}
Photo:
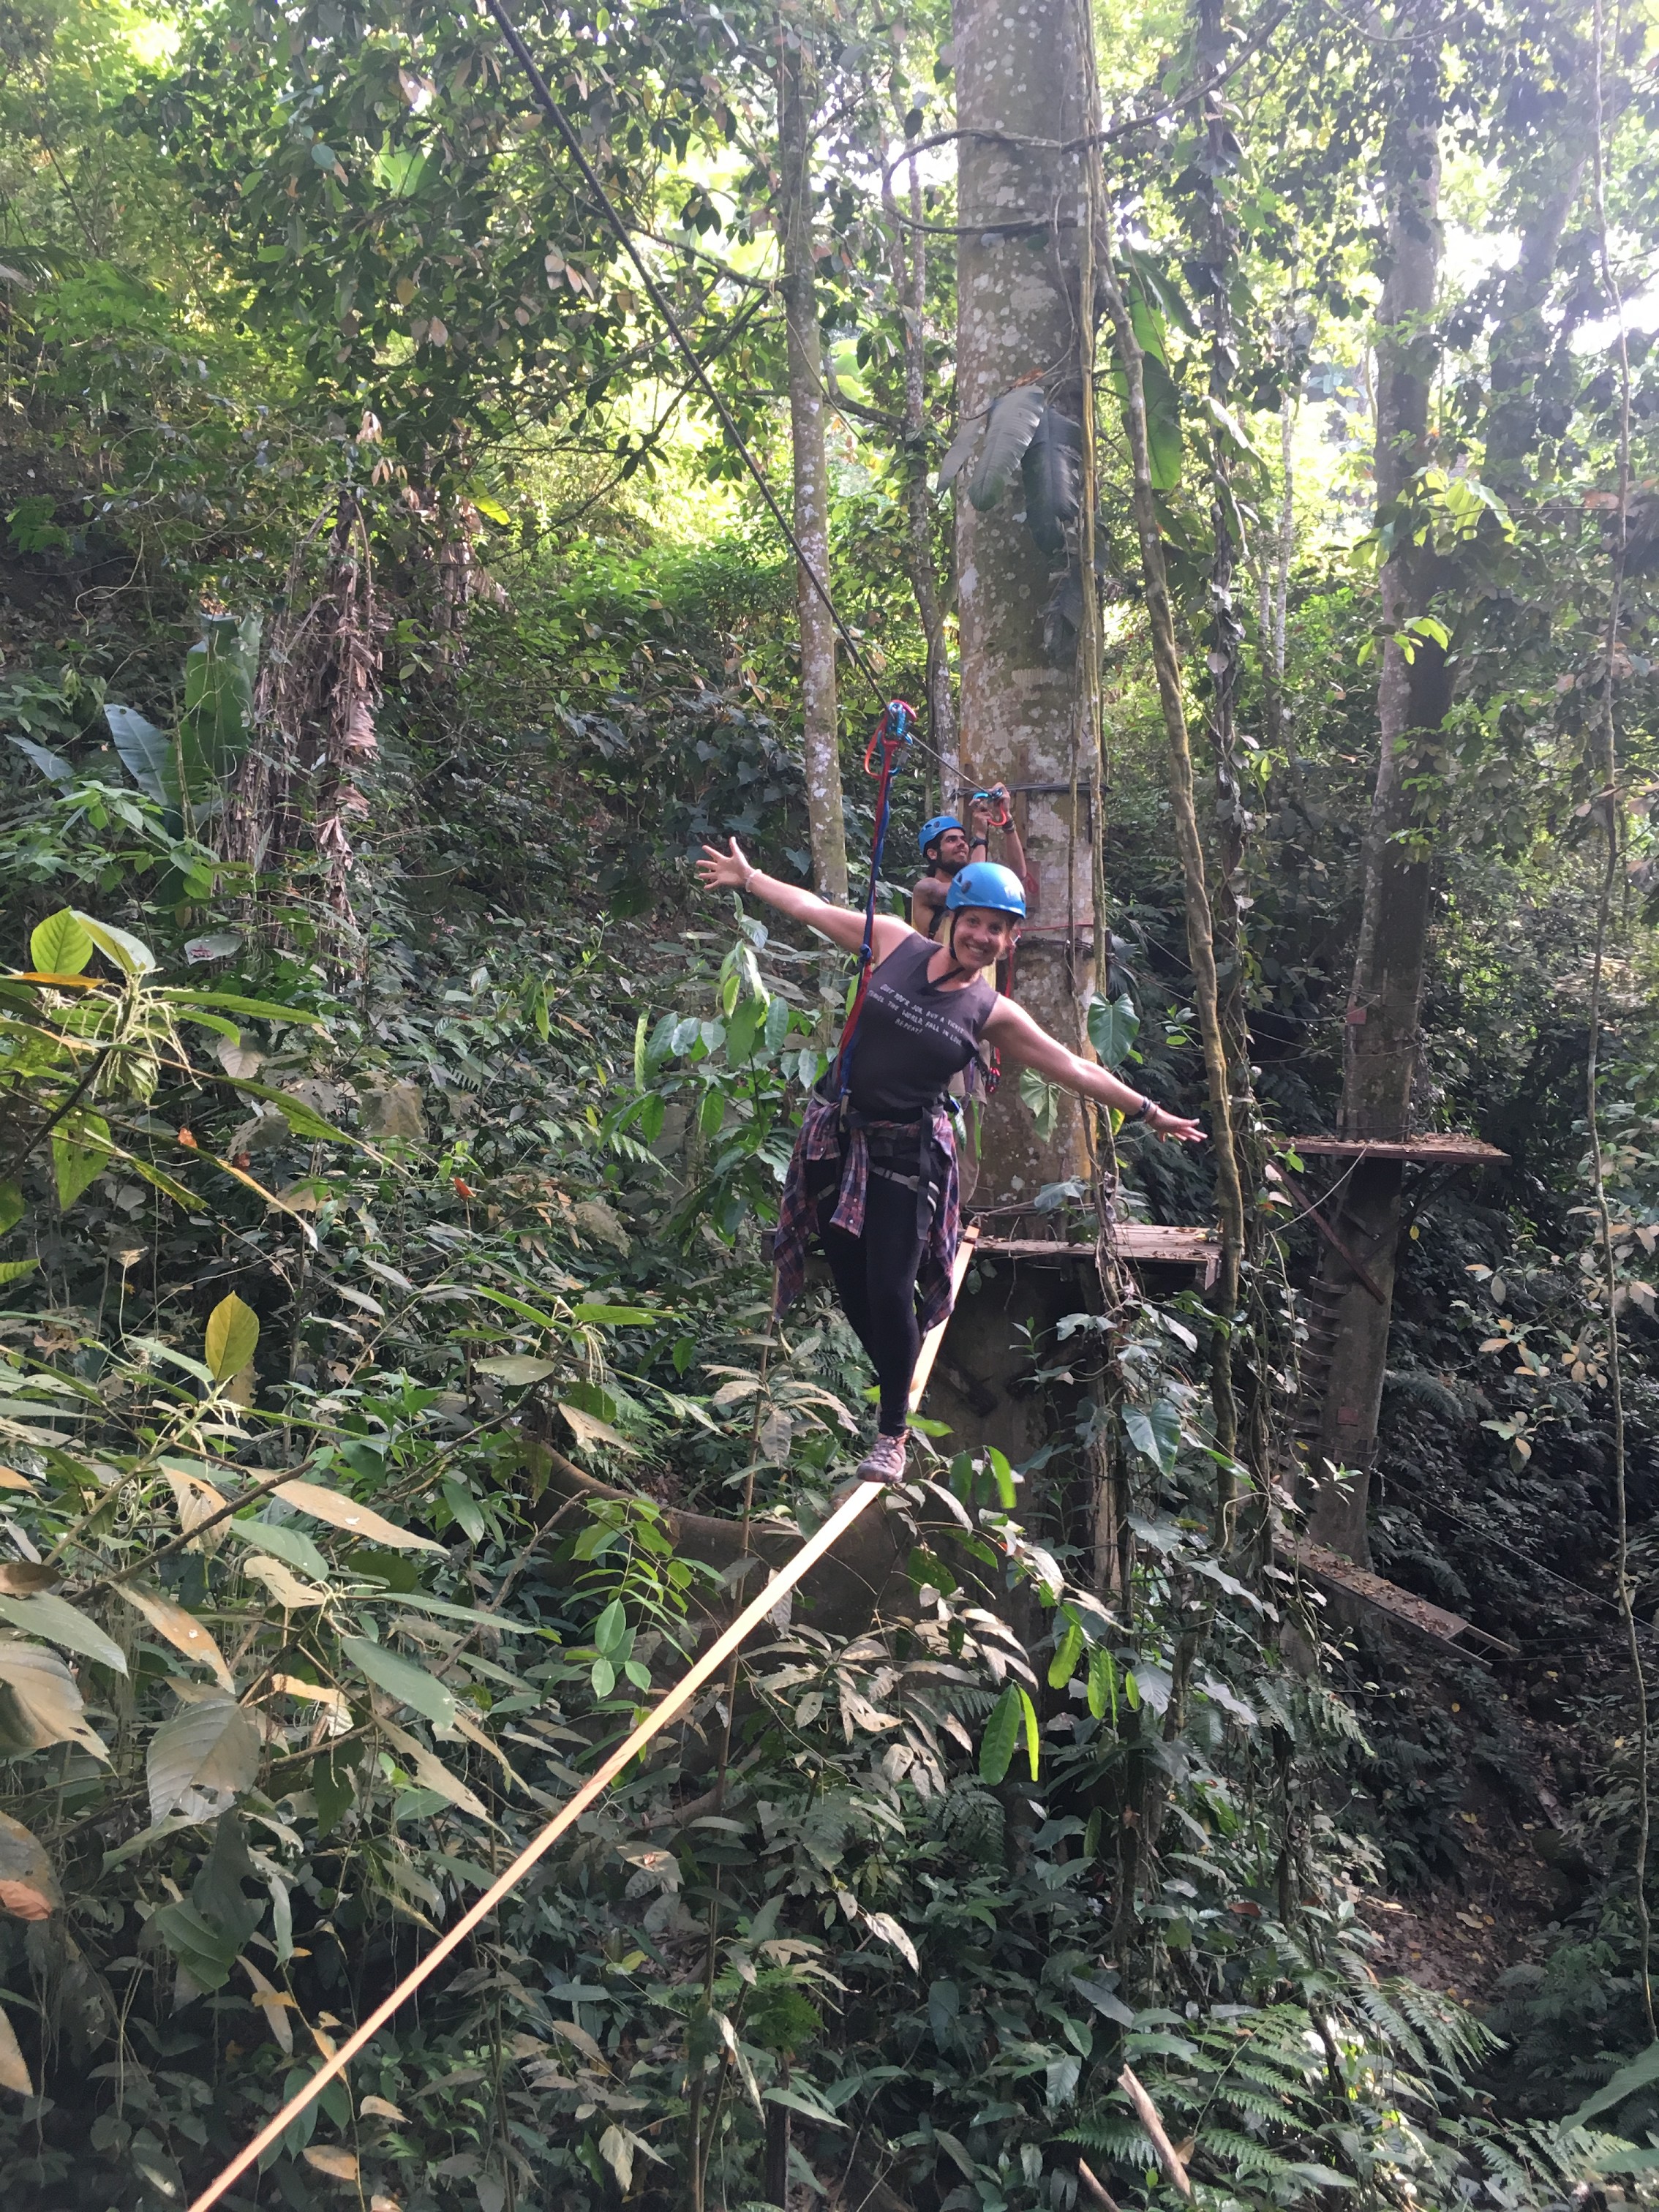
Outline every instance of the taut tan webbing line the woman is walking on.
{"type": "MultiPolygon", "coordinates": [[[[967,1276],[969,1263],[973,1259],[973,1245],[978,1243],[978,1237],[980,1232],[975,1225],[969,1225],[962,1232],[962,1243],[958,1245],[956,1252],[956,1265],[951,1267],[953,1298],[962,1290],[962,1279],[967,1276]]],[[[945,1329],[947,1321],[940,1321],[938,1327],[929,1329],[927,1338],[922,1340],[922,1349],[916,1360],[916,1376],[911,1378],[911,1389],[909,1389],[911,1411],[920,1405],[922,1391],[927,1389],[927,1378],[933,1371],[933,1360],[938,1356],[940,1340],[945,1338],[945,1329]]],[[[593,1774],[586,1783],[582,1783],[582,1787],[573,1798],[560,1805],[560,1809],[553,1814],[553,1818],[546,1823],[540,1836],[533,1836],[531,1843],[524,1845],[524,1849],[518,1854],[511,1867],[507,1867],[507,1871],[500,1874],[489,1885],[489,1889],[471,1907],[471,1911],[462,1913],[462,1918],[449,1929],[449,1933],[442,1936],[431,1947],[431,1951],[427,1951],[427,1955],[414,1966],[414,1971],[398,1982],[392,1995],[383,1997],[380,2004],[376,2004],[376,2008],[369,2013],[363,2026],[341,2044],[334,2057],[316,2068],[305,2088],[296,2090],[281,2108],[281,2112],[276,2112],[274,2119],[265,2121],[265,2126],[259,2130],[252,2143],[248,2143],[243,2150],[237,2152],[230,2166],[226,2166],[223,2172],[208,2183],[208,2188],[201,2192],[201,2197],[195,2199],[188,2212],[208,2212],[208,2205],[217,2205],[223,2192],[230,2188],[230,2183],[239,2181],[241,2174],[246,2174],[248,2168],[270,2150],[276,2137],[283,2135],[283,2130],[299,2119],[305,2106],[336,2075],[345,2073],[345,2068],[352,2064],[358,2051],[380,2033],[387,2020],[392,2020],[403,2000],[414,1995],[414,1991],[420,1989],[420,1984],[431,1973],[436,1973],[438,1966],[442,1966],[449,1953],[456,1951],[462,1942],[467,1942],[473,1929],[495,1911],[502,1898],[511,1889],[515,1889],[518,1882],[524,1880],[524,1876],[531,1871],[538,1858],[542,1858],[546,1851],[553,1849],[553,1845],[560,1840],[566,1827],[571,1827],[571,1823],[577,1820],[588,1809],[588,1805],[593,1805],[599,1796],[604,1796],[604,1792],[611,1787],[617,1774],[622,1774],[628,1761],[635,1759],[646,1747],[646,1743],[650,1743],[655,1734],[668,1728],[668,1723],[686,1710],[686,1705],[692,1701],[692,1697],[697,1697],[703,1683],[712,1674],[717,1674],[721,1666],[739,1648],[739,1644],[743,1644],[748,1632],[752,1628],[759,1628],[761,1621],[768,1617],[768,1613],[772,1613],[783,1593],[792,1590],[796,1582],[801,1582],[801,1577],[807,1573],[807,1568],[816,1566],[818,1559],[823,1559],[823,1555],[832,1551],[834,1544],[841,1542],[841,1537],[847,1533],[847,1528],[852,1528],[858,1515],[869,1504],[874,1504],[876,1498],[880,1498],[883,1489],[885,1484],[880,1482],[860,1482],[856,1484],[856,1489],[847,1493],[847,1498],[841,1500],[841,1504],[823,1524],[823,1528],[818,1528],[814,1537],[807,1537],[807,1542],[801,1546],[794,1559],[790,1559],[787,1566],[781,1566],[776,1575],[772,1575],[772,1579],[759,1593],[759,1597],[754,1597],[748,1606],[743,1606],[732,1626],[721,1637],[717,1637],[708,1646],[703,1657],[692,1666],[690,1674],[686,1674],[684,1681],[679,1681],[672,1690],[668,1690],[664,1701],[639,1723],[639,1728],[635,1728],[635,1732],[624,1743],[617,1745],[617,1750],[606,1759],[606,1763],[597,1770],[597,1774],[593,1774]]]]}

